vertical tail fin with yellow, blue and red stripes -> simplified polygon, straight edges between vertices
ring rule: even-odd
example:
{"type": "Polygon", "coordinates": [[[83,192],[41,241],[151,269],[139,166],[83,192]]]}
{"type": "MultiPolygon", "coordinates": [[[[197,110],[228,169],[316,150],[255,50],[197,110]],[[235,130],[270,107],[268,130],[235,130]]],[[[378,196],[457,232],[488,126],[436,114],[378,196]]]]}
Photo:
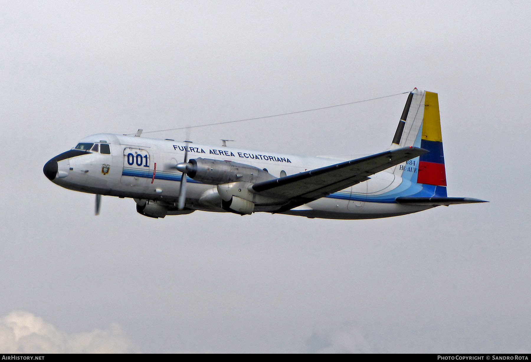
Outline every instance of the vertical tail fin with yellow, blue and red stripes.
{"type": "Polygon", "coordinates": [[[447,197],[437,93],[416,88],[409,93],[391,149],[408,146],[430,152],[397,165],[393,174],[412,183],[423,184],[423,188],[430,191],[433,189],[433,196],[447,197]]]}

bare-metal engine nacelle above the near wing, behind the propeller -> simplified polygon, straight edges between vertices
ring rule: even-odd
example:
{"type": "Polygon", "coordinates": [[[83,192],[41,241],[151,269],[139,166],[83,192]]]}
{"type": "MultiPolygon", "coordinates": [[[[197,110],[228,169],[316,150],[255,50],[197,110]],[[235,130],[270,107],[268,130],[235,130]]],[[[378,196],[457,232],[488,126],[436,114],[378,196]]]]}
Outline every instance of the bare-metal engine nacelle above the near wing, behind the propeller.
{"type": "Polygon", "coordinates": [[[209,185],[228,184],[232,182],[262,182],[276,178],[270,173],[251,165],[233,161],[195,158],[189,161],[187,175],[209,185]]]}

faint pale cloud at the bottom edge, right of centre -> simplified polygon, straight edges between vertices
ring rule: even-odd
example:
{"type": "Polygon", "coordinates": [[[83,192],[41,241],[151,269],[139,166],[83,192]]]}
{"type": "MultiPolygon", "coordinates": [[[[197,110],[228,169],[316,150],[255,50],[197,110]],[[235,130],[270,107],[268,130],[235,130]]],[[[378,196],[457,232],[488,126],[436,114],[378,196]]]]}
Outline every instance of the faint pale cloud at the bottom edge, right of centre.
{"type": "Polygon", "coordinates": [[[345,325],[338,330],[313,332],[306,341],[307,352],[338,354],[338,353],[374,353],[373,343],[365,333],[353,324],[345,325]]]}

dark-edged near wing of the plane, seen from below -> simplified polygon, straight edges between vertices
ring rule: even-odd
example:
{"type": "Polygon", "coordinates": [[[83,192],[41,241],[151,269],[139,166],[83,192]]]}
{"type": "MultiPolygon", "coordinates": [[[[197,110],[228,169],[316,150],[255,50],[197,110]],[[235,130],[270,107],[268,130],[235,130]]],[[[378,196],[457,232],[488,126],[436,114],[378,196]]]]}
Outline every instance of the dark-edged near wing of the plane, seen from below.
{"type": "Polygon", "coordinates": [[[426,152],[428,151],[416,147],[399,148],[295,175],[259,182],[254,184],[252,188],[259,195],[290,200],[290,203],[282,209],[289,206],[291,209],[368,180],[371,175],[426,152]]]}

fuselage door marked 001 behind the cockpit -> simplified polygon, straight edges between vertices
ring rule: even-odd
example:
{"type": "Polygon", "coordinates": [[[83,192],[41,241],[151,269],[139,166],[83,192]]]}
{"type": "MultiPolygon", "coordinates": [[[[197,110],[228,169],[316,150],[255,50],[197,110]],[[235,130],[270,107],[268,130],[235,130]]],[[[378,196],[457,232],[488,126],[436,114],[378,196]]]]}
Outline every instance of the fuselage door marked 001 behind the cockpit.
{"type": "Polygon", "coordinates": [[[138,148],[124,149],[124,169],[120,182],[129,186],[144,186],[153,176],[153,165],[148,151],[138,148]]]}

